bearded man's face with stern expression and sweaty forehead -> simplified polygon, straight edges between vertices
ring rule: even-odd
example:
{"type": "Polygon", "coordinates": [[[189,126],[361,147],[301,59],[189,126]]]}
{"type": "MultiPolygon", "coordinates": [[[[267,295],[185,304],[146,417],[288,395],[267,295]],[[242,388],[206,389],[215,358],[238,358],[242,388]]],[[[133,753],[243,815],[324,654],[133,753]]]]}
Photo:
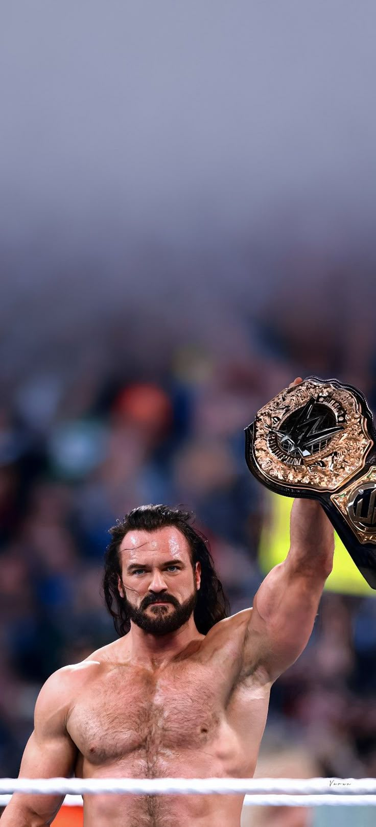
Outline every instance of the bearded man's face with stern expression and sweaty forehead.
{"type": "Polygon", "coordinates": [[[174,526],[129,531],[121,541],[118,589],[136,626],[150,634],[176,632],[197,602],[200,563],[193,566],[188,540],[174,526]]]}

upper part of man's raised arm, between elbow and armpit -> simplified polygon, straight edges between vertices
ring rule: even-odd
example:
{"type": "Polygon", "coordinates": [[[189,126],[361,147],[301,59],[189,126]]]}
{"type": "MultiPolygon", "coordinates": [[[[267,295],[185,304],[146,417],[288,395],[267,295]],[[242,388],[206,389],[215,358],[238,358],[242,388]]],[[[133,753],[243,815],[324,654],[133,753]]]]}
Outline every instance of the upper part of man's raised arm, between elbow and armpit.
{"type": "Polygon", "coordinates": [[[326,575],[297,572],[288,559],[265,577],[255,595],[245,646],[245,669],[270,681],[291,666],[311,636],[326,575]]]}

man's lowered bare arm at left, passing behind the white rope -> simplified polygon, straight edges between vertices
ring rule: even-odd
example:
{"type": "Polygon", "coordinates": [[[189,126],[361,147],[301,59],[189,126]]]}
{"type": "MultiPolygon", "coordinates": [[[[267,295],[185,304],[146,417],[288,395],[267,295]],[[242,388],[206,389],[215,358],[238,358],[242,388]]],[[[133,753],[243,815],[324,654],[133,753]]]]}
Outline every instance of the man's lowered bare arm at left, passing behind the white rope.
{"type": "MultiPolygon", "coordinates": [[[[69,777],[77,748],[65,728],[69,710],[69,667],[50,676],[36,701],[34,731],[21,761],[20,777],[69,777]]],[[[14,793],[4,810],[1,827],[44,827],[55,818],[64,796],[14,793]]]]}

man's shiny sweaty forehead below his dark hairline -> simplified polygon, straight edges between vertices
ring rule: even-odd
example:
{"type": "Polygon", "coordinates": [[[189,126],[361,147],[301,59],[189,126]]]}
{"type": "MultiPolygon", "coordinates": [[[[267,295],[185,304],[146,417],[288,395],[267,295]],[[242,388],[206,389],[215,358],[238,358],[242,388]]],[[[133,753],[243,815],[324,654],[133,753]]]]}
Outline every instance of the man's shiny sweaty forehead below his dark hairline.
{"type": "Polygon", "coordinates": [[[170,557],[183,557],[189,555],[189,544],[175,526],[164,526],[155,531],[139,528],[125,534],[120,551],[124,557],[137,557],[142,553],[152,556],[165,553],[170,557]]]}

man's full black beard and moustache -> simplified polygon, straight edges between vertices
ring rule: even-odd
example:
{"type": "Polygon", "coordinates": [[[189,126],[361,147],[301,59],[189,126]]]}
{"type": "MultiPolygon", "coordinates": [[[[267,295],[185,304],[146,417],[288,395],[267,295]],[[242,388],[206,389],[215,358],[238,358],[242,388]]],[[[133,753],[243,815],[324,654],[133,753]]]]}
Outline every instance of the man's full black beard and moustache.
{"type": "Polygon", "coordinates": [[[172,595],[153,594],[147,595],[138,608],[132,606],[126,597],[124,603],[129,619],[132,620],[136,626],[139,626],[140,629],[143,629],[144,632],[148,632],[149,634],[162,635],[176,632],[183,624],[187,623],[193,613],[197,600],[198,590],[196,584],[194,584],[193,595],[188,597],[188,600],[184,600],[182,604],[178,603],[178,600],[172,597],[172,595]],[[155,603],[155,600],[165,600],[166,603],[172,604],[174,611],[168,609],[166,606],[155,606],[154,609],[147,612],[147,607],[155,603]]]}

